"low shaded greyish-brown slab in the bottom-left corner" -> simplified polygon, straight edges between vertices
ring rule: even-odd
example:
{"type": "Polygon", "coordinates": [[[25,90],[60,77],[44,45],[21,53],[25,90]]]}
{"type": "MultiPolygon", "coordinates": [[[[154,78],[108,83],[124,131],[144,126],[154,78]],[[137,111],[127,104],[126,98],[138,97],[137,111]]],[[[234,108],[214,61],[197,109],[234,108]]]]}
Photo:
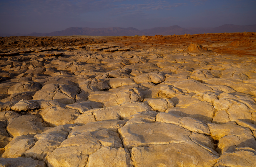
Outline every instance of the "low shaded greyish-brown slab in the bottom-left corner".
{"type": "Polygon", "coordinates": [[[0,167],[46,167],[44,161],[35,160],[32,158],[1,158],[0,159],[0,167]]]}

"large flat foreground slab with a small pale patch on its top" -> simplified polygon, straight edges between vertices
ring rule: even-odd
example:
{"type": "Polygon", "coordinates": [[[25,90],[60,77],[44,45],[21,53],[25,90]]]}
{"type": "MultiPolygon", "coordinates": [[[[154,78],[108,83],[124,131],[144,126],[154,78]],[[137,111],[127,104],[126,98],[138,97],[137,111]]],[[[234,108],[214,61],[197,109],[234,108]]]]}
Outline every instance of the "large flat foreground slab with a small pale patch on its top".
{"type": "Polygon", "coordinates": [[[125,148],[181,143],[189,140],[190,131],[167,123],[130,124],[118,130],[125,148]]]}

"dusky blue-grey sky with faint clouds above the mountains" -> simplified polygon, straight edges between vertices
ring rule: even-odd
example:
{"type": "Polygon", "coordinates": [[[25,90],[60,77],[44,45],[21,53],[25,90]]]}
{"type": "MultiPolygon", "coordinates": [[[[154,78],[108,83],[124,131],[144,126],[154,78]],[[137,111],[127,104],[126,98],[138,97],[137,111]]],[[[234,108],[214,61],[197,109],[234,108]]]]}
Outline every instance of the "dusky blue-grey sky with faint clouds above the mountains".
{"type": "Polygon", "coordinates": [[[0,0],[0,33],[256,24],[256,0],[0,0]]]}

